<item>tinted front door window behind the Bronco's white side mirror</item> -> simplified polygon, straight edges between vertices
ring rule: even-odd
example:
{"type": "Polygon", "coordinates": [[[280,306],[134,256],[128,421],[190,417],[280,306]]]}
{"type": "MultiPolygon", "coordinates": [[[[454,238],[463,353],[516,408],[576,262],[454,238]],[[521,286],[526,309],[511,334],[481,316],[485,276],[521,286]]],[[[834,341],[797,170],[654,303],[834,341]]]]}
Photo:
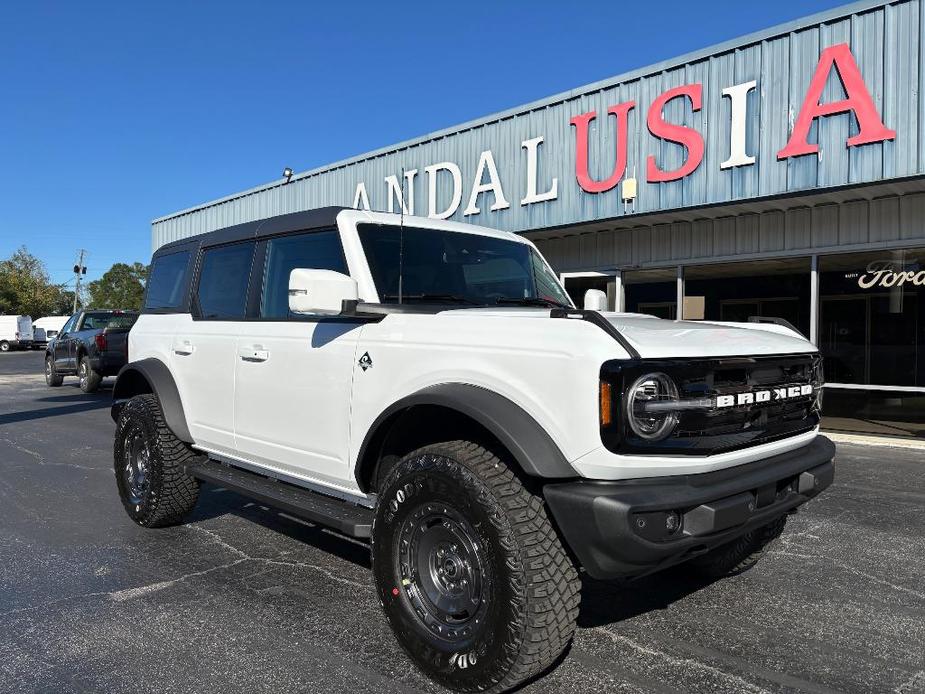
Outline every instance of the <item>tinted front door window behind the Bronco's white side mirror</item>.
{"type": "Polygon", "coordinates": [[[267,263],[261,318],[289,316],[289,273],[296,268],[334,270],[347,274],[347,262],[336,231],[280,236],[267,242],[267,263]]]}

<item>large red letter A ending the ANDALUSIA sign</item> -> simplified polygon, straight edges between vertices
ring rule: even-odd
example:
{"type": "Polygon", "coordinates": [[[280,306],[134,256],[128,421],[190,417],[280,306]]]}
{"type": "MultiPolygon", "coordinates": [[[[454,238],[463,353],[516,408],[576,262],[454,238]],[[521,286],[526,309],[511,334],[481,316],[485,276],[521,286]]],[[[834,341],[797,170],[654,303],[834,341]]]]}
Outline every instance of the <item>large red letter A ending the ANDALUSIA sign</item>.
{"type": "Polygon", "coordinates": [[[806,98],[800,108],[800,115],[797,116],[797,120],[793,124],[790,141],[786,147],[777,153],[777,158],[787,159],[788,157],[798,157],[801,154],[815,154],[819,151],[819,145],[811,145],[806,141],[813,119],[819,116],[847,113],[848,111],[854,113],[854,117],[858,120],[859,128],[857,135],[848,138],[848,147],[892,140],[896,137],[896,131],[887,128],[883,121],[880,120],[880,114],[877,113],[874,100],[871,99],[870,92],[867,91],[864,78],[861,77],[861,71],[858,70],[858,64],[854,62],[851,49],[848,48],[847,43],[840,43],[837,46],[826,48],[822,51],[822,55],[819,56],[819,64],[816,66],[816,72],[809,83],[809,90],[806,92],[806,98]],[[831,104],[820,104],[819,99],[822,97],[822,90],[825,89],[825,83],[829,78],[833,65],[838,71],[838,76],[841,78],[842,86],[845,88],[845,94],[848,98],[842,101],[833,101],[831,104]]]}

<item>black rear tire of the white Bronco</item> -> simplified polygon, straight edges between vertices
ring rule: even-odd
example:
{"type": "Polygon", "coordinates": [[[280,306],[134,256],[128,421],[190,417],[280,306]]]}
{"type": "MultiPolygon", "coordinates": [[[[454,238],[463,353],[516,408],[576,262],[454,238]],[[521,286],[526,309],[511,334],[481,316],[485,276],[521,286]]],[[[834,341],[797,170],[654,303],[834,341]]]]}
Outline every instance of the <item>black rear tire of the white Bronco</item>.
{"type": "Polygon", "coordinates": [[[201,459],[167,428],[156,396],[136,395],[125,403],[116,424],[113,462],[119,498],[138,525],[163,528],[183,521],[196,506],[200,487],[184,466],[201,459]],[[135,442],[146,447],[149,461],[148,485],[139,494],[133,492],[126,473],[126,453],[135,442]]]}

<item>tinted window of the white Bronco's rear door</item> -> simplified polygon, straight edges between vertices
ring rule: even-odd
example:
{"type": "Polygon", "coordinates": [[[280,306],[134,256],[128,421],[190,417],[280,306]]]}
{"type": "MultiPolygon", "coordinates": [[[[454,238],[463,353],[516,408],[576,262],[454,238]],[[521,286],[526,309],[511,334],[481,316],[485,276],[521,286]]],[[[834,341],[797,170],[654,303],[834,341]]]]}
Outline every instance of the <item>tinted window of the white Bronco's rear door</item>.
{"type": "Polygon", "coordinates": [[[203,252],[197,293],[203,318],[244,318],[253,255],[253,243],[203,252]]]}

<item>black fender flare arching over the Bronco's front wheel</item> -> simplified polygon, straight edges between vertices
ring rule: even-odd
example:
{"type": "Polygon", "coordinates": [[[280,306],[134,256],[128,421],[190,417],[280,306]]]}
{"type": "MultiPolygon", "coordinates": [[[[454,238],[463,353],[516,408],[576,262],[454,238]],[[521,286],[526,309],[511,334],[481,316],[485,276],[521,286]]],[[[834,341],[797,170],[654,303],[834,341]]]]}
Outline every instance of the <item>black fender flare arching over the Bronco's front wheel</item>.
{"type": "MultiPolygon", "coordinates": [[[[520,405],[480,386],[442,383],[394,402],[376,418],[366,432],[357,456],[358,478],[379,428],[392,415],[416,405],[446,407],[479,423],[505,447],[521,469],[531,477],[568,479],[578,476],[549,433],[520,405]]],[[[362,485],[362,481],[358,481],[362,485]]]]}

